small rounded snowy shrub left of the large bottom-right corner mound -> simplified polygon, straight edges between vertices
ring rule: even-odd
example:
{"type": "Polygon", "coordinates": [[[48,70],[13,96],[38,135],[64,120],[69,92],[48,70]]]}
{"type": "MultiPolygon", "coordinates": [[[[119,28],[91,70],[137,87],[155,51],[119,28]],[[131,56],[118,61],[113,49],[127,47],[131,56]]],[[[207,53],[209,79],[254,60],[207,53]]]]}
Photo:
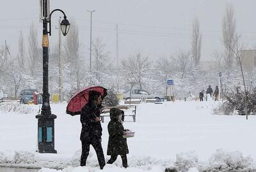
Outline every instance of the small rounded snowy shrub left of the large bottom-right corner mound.
{"type": "Polygon", "coordinates": [[[196,167],[198,164],[198,157],[195,152],[181,152],[176,155],[175,166],[179,171],[185,172],[189,168],[196,167]]]}

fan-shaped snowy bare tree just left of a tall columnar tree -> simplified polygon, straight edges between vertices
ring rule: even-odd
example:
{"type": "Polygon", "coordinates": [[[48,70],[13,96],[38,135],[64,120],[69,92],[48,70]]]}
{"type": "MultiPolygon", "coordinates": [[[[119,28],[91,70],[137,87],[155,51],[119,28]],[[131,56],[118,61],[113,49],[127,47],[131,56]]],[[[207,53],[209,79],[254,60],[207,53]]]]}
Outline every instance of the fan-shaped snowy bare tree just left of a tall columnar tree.
{"type": "Polygon", "coordinates": [[[189,57],[191,56],[191,52],[179,50],[175,56],[172,57],[173,62],[177,65],[179,72],[181,73],[181,78],[184,77],[186,73],[186,69],[188,68],[189,57]]]}

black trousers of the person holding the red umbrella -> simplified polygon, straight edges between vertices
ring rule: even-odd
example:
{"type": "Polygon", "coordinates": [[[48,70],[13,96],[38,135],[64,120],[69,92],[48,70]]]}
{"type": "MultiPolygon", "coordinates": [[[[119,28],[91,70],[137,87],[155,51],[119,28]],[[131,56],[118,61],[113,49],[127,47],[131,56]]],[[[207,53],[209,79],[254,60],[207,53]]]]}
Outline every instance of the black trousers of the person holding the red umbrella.
{"type": "Polygon", "coordinates": [[[99,139],[92,139],[92,141],[81,141],[82,142],[82,155],[81,155],[81,166],[86,166],[86,159],[90,152],[90,145],[93,146],[95,152],[97,153],[98,162],[100,169],[105,166],[105,158],[102,150],[102,146],[99,139]]]}

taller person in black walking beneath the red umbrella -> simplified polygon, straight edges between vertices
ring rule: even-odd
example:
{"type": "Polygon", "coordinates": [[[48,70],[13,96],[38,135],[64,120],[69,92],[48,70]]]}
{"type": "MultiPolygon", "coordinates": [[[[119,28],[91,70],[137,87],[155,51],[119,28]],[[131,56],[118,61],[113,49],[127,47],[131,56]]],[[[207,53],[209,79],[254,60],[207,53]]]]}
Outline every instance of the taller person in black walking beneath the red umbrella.
{"type": "Polygon", "coordinates": [[[90,91],[89,102],[81,111],[80,121],[82,130],[80,140],[82,142],[81,166],[86,166],[86,159],[89,155],[90,145],[97,153],[100,169],[105,166],[105,158],[101,145],[102,127],[100,124],[100,110],[102,98],[99,92],[90,91]]]}

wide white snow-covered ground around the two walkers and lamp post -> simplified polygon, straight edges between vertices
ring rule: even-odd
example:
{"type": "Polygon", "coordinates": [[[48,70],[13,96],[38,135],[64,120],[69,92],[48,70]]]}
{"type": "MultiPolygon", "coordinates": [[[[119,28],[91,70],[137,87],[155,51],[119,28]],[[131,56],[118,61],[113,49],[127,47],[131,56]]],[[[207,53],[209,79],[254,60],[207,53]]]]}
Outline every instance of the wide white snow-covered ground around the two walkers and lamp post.
{"type": "MultiPolygon", "coordinates": [[[[124,127],[136,132],[128,138],[128,164],[124,169],[120,157],[103,171],[164,171],[176,167],[180,171],[211,171],[211,169],[243,169],[256,171],[256,118],[220,116],[212,109],[220,102],[164,102],[139,104],[136,122],[125,118],[124,127]]],[[[18,105],[12,105],[15,107],[18,105]]],[[[100,171],[93,148],[88,166],[79,167],[81,142],[79,116],[65,113],[67,104],[51,104],[55,120],[57,154],[36,152],[38,106],[10,109],[0,104],[0,165],[42,168],[48,172],[100,171]],[[29,108],[29,109],[27,109],[29,108]],[[26,110],[24,110],[26,109],[26,110]],[[22,111],[22,114],[19,112],[22,111]],[[24,112],[26,114],[24,114],[24,112]],[[55,169],[46,169],[55,168],[55,169]],[[61,171],[61,170],[60,170],[61,171]]],[[[102,123],[102,147],[108,145],[108,121],[102,123]]],[[[109,156],[105,155],[106,160],[109,156]]]]}

